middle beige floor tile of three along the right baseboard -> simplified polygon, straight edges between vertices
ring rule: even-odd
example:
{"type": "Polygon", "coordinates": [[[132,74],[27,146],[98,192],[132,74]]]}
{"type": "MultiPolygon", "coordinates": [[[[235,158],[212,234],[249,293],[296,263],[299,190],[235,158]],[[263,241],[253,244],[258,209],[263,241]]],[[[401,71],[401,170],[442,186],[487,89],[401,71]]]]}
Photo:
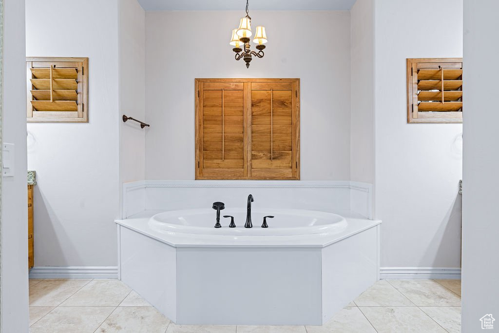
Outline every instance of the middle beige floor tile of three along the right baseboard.
{"type": "Polygon", "coordinates": [[[418,307],[460,307],[461,298],[431,280],[390,280],[389,283],[418,307]]]}

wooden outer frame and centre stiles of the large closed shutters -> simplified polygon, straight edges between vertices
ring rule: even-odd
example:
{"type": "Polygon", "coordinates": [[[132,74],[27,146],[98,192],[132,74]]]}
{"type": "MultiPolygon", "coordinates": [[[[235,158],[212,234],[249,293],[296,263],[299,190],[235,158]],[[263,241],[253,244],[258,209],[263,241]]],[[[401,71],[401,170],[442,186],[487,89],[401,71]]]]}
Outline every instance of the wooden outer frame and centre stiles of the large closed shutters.
{"type": "Polygon", "coordinates": [[[300,179],[300,101],[299,94],[300,85],[299,78],[196,78],[195,79],[195,129],[196,129],[196,165],[195,174],[197,180],[209,180],[209,179],[224,179],[224,180],[299,180],[300,179]],[[201,173],[203,167],[203,128],[200,126],[201,117],[201,101],[203,100],[203,89],[202,85],[206,82],[243,82],[243,98],[244,98],[244,155],[245,155],[245,170],[247,176],[245,177],[204,177],[201,173]],[[290,82],[292,84],[292,138],[291,138],[291,170],[292,177],[251,177],[251,83],[252,82],[290,82]]]}

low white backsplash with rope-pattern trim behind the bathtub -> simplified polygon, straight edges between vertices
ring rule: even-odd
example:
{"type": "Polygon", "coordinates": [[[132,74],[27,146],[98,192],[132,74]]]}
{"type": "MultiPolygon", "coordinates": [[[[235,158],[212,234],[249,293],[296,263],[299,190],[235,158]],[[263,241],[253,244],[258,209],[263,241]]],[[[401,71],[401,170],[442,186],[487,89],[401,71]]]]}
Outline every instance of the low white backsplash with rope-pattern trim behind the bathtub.
{"type": "Polygon", "coordinates": [[[334,210],[372,218],[372,185],[354,181],[142,180],[123,184],[121,217],[144,210],[210,208],[213,198],[226,207],[334,210]]]}

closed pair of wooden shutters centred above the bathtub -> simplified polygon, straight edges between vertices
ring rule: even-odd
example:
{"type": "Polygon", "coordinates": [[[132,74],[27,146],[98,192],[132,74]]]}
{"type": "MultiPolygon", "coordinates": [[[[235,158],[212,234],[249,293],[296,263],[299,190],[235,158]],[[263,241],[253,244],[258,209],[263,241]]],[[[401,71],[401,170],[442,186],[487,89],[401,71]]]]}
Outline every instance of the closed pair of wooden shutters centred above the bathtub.
{"type": "Polygon", "coordinates": [[[299,79],[196,79],[196,179],[299,179],[299,79]]]}

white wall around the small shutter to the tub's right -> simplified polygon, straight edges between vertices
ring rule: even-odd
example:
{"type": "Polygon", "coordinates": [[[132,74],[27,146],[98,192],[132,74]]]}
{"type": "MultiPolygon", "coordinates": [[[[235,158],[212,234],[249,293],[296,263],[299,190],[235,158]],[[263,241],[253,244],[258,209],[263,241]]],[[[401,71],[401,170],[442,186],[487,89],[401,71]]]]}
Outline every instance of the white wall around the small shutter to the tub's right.
{"type": "Polygon", "coordinates": [[[462,0],[375,2],[382,267],[460,267],[462,125],[407,124],[406,58],[462,56],[462,16],[462,0]]]}

